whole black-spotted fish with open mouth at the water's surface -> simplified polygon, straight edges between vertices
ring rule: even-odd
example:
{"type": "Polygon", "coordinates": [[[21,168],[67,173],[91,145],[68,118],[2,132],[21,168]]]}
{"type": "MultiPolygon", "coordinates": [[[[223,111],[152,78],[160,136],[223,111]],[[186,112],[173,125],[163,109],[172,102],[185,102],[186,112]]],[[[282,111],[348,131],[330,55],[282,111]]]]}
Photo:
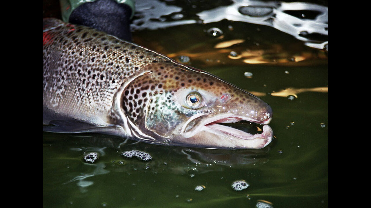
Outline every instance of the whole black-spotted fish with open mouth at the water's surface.
{"type": "Polygon", "coordinates": [[[43,19],[43,130],[201,148],[263,148],[272,108],[205,71],[93,28],[43,19]],[[250,134],[221,125],[263,125],[250,134]]]}

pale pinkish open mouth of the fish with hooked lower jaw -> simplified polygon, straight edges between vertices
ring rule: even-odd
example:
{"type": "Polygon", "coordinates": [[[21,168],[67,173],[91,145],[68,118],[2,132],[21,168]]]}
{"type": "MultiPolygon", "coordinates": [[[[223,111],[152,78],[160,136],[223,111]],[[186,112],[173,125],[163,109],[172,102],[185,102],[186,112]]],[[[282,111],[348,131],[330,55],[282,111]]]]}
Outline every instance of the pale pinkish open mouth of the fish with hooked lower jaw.
{"type": "MultiPolygon", "coordinates": [[[[202,122],[197,125],[192,131],[184,132],[183,135],[186,137],[193,137],[201,131],[206,131],[209,134],[214,135],[214,139],[224,140],[226,147],[230,148],[263,148],[266,147],[271,141],[273,136],[272,128],[266,125],[272,120],[272,117],[267,118],[264,121],[257,121],[248,117],[241,117],[238,115],[200,115],[197,118],[192,119],[201,120],[202,122]],[[205,118],[206,117],[206,118],[205,118]],[[226,125],[230,123],[237,123],[239,121],[247,121],[247,123],[254,123],[263,125],[262,132],[251,131],[252,128],[244,128],[239,130],[234,128],[234,125],[226,125]],[[249,131],[246,131],[248,130],[249,131]]],[[[188,121],[187,123],[192,123],[188,121]]],[[[244,124],[243,124],[244,125],[244,124]]],[[[249,124],[246,124],[249,125],[249,124]]]]}

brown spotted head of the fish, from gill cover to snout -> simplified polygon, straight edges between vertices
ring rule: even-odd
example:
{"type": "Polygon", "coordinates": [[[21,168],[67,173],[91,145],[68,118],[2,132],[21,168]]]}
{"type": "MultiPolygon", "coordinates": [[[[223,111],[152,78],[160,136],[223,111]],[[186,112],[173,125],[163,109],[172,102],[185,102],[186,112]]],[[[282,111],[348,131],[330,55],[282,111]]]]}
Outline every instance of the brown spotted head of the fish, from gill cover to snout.
{"type": "Polygon", "coordinates": [[[258,97],[196,68],[155,63],[122,91],[121,106],[136,137],[200,148],[263,148],[272,140],[272,108],[258,97]],[[227,125],[263,125],[250,134],[227,125]]]}

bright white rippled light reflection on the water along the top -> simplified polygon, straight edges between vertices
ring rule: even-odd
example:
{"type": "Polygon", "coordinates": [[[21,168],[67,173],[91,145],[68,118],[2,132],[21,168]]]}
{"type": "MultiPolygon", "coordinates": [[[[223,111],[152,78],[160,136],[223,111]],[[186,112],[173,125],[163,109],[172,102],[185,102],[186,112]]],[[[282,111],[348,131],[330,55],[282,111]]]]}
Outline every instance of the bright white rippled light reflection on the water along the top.
{"type": "MultiPolygon", "coordinates": [[[[173,27],[194,23],[213,23],[223,19],[230,21],[242,21],[247,23],[266,25],[288,33],[305,42],[306,46],[326,49],[328,48],[328,7],[306,2],[283,1],[258,1],[258,0],[233,0],[228,6],[219,6],[197,13],[197,18],[180,20],[182,16],[174,15],[166,18],[169,14],[179,14],[183,9],[174,5],[167,5],[161,1],[137,0],[138,18],[132,24],[132,30],[173,27]],[[158,21],[160,20],[160,21],[158,21]],[[200,21],[201,20],[201,21],[200,21]],[[315,38],[317,36],[317,38],[315,38]]],[[[219,28],[210,28],[216,31],[210,34],[220,33],[219,28]]]]}

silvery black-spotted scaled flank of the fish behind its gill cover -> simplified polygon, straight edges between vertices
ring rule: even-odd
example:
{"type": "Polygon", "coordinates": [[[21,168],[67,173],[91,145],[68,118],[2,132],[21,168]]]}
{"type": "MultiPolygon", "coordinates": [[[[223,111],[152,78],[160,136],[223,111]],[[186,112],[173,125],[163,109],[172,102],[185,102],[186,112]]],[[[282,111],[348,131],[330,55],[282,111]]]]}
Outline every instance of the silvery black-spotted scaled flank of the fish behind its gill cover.
{"type": "Polygon", "coordinates": [[[91,28],[65,24],[46,30],[43,100],[61,114],[104,123],[101,118],[125,78],[141,73],[148,63],[163,61],[167,59],[152,51],[91,28]]]}

